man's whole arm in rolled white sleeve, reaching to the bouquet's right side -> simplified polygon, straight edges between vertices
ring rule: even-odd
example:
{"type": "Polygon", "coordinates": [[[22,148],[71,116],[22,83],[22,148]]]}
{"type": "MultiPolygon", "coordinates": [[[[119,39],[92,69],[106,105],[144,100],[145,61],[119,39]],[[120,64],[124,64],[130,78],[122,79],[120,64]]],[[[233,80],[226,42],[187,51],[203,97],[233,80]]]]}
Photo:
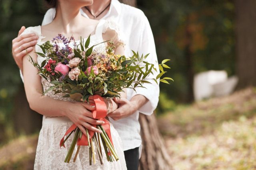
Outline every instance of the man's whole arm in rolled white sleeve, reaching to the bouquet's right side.
{"type": "MultiPolygon", "coordinates": [[[[144,61],[154,64],[154,67],[157,71],[152,70],[153,74],[150,74],[148,78],[156,78],[157,74],[159,74],[156,47],[150,24],[144,14],[142,16],[142,21],[140,22],[140,24],[141,29],[139,30],[139,32],[142,34],[140,37],[141,43],[138,48],[139,53],[140,55],[142,53],[144,55],[150,53],[150,55],[148,55],[147,59],[145,59],[144,61]]],[[[132,115],[137,110],[143,114],[151,115],[158,104],[159,81],[158,84],[156,84],[154,80],[148,81],[152,84],[143,84],[145,88],[136,88],[136,92],[133,92],[130,101],[125,98],[116,98],[115,102],[119,103],[119,108],[116,109],[116,111],[108,114],[108,116],[114,120],[119,120],[132,115]]]]}

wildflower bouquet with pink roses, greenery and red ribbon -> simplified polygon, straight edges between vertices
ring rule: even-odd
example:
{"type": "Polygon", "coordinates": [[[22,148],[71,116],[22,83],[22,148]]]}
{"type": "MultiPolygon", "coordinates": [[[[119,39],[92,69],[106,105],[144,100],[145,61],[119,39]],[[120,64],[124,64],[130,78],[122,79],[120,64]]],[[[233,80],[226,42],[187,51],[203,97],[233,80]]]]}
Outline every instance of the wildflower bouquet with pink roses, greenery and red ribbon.
{"type": "MultiPolygon", "coordinates": [[[[102,42],[102,43],[106,43],[102,42]]],[[[92,96],[96,109],[92,111],[94,119],[103,120],[103,125],[94,125],[103,133],[94,133],[86,129],[86,135],[73,124],[64,137],[60,141],[60,147],[65,147],[64,143],[72,133],[75,133],[74,139],[68,150],[68,154],[64,162],[70,162],[74,152],[75,145],[78,149],[74,156],[74,162],[78,155],[81,146],[89,147],[90,165],[96,163],[96,153],[103,164],[102,157],[106,155],[108,161],[117,161],[118,155],[112,143],[110,125],[106,118],[106,104],[102,97],[114,98],[120,97],[120,93],[124,88],[142,87],[144,83],[152,83],[149,80],[154,80],[158,83],[158,79],[163,76],[164,68],[170,68],[165,63],[169,59],[165,59],[159,64],[161,73],[156,78],[148,78],[152,74],[152,70],[156,70],[154,64],[144,61],[148,55],[139,55],[133,52],[132,57],[115,55],[115,46],[109,42],[106,51],[98,52],[94,50],[99,44],[90,44],[90,36],[84,42],[82,37],[79,44],[76,44],[74,37],[66,38],[59,34],[50,41],[39,45],[42,53],[38,55],[45,58],[39,65],[30,57],[30,62],[38,68],[38,74],[44,77],[52,84],[43,95],[52,90],[54,94],[61,93],[63,98],[71,98],[79,102],[88,101],[89,96],[92,96]],[[64,46],[61,47],[60,43],[64,46]],[[73,47],[70,47],[73,43],[73,47]],[[90,137],[89,137],[90,135],[90,137]],[[102,154],[104,148],[105,154],[102,154]]],[[[161,82],[168,83],[171,78],[164,77],[161,82]]],[[[168,83],[169,84],[169,83],[168,83]]]]}

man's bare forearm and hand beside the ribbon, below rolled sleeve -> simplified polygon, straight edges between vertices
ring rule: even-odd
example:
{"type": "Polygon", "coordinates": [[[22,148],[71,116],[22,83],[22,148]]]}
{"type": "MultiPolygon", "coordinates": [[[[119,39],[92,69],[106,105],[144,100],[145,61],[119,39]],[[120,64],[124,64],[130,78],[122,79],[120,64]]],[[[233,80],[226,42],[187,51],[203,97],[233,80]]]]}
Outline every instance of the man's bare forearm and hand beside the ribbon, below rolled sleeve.
{"type": "Polygon", "coordinates": [[[126,98],[114,98],[116,103],[119,103],[118,109],[108,114],[113,120],[119,120],[128,117],[142,107],[148,99],[143,95],[135,95],[130,101],[126,98]]]}

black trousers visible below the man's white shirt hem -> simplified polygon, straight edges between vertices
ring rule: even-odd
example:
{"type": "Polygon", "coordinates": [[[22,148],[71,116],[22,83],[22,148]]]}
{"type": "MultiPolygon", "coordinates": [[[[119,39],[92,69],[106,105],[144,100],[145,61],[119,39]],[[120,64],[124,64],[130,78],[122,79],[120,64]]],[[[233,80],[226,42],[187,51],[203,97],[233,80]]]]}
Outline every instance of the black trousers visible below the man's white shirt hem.
{"type": "Polygon", "coordinates": [[[139,168],[139,147],[124,151],[127,170],[138,170],[139,168]]]}

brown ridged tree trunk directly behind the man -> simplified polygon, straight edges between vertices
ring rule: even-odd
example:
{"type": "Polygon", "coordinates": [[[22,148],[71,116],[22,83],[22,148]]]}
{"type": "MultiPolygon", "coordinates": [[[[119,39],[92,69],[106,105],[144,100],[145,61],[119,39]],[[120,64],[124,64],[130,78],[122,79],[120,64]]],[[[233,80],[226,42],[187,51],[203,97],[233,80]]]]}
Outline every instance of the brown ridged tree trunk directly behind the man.
{"type": "MultiPolygon", "coordinates": [[[[119,0],[124,4],[136,6],[136,0],[119,0]]],[[[170,156],[167,152],[162,135],[158,130],[156,115],[139,117],[142,137],[142,155],[140,170],[172,170],[170,156]]]]}

